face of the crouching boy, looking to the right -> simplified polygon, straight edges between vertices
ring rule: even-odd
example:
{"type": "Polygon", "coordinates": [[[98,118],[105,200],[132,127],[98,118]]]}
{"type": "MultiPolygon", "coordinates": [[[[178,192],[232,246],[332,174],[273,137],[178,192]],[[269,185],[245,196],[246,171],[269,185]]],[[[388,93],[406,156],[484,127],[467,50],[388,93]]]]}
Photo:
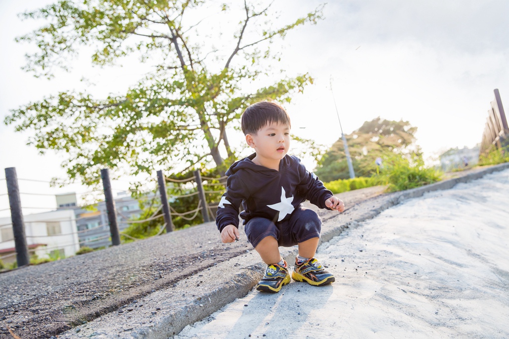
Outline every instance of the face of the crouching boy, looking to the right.
{"type": "Polygon", "coordinates": [[[247,144],[254,148],[258,158],[267,161],[283,159],[290,149],[290,126],[270,122],[256,135],[247,134],[247,144]]]}

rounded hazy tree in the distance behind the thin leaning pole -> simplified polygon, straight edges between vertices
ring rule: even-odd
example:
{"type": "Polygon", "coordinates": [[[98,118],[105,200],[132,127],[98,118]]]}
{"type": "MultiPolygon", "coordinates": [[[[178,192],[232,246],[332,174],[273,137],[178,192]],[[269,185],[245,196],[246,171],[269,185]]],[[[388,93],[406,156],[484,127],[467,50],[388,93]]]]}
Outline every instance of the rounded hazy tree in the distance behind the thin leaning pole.
{"type": "MultiPolygon", "coordinates": [[[[371,176],[376,173],[375,160],[386,151],[403,153],[409,148],[420,153],[415,145],[414,133],[408,121],[393,121],[377,117],[346,135],[348,149],[356,176],[371,176]]],[[[318,162],[315,173],[323,181],[350,177],[343,140],[338,139],[318,162]]]]}

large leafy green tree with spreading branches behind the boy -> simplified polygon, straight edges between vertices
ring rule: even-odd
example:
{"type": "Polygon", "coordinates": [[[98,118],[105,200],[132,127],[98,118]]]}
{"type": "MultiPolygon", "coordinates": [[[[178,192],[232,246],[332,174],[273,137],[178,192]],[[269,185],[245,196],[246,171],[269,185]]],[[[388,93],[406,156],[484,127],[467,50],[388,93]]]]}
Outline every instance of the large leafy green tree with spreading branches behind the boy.
{"type": "MultiPolygon", "coordinates": [[[[202,27],[197,19],[196,13],[209,4],[61,0],[24,13],[25,19],[47,22],[17,39],[37,46],[25,67],[36,76],[51,78],[55,68],[69,70],[69,60],[82,46],[93,48],[95,65],[115,64],[139,53],[140,62],[150,62],[155,70],[125,94],[96,99],[87,91],[63,91],[12,110],[5,124],[33,131],[29,143],[42,153],[65,153],[62,167],[69,179],[89,185],[99,182],[105,166],[130,175],[152,175],[156,167],[171,171],[207,164],[224,171],[236,151],[228,142],[227,127],[238,128],[244,108],[265,99],[289,102],[293,93],[312,83],[302,74],[252,92],[243,89],[268,75],[264,65],[278,57],[270,49],[275,39],[305,23],[316,24],[322,7],[285,25],[276,24],[270,5],[259,8],[244,2],[243,17],[231,33],[231,50],[225,53],[213,47],[212,38],[199,35],[216,30],[202,27]]],[[[218,5],[217,20],[232,11],[233,5],[218,5]]]]}

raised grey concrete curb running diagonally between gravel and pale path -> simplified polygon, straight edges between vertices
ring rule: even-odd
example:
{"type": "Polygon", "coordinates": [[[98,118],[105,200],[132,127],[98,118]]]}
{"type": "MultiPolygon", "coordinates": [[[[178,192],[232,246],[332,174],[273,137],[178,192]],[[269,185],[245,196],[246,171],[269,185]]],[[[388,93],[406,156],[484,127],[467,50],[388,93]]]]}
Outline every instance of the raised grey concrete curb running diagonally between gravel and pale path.
{"type": "MultiPolygon", "coordinates": [[[[464,176],[444,180],[428,186],[392,193],[366,200],[349,211],[350,221],[343,221],[340,214],[327,219],[322,229],[321,243],[340,235],[346,228],[370,220],[383,210],[407,199],[420,197],[427,192],[447,190],[460,182],[479,179],[486,174],[509,168],[509,163],[482,168],[464,176]],[[370,207],[372,206],[372,207],[370,207]]],[[[347,219],[343,217],[343,219],[347,219]]],[[[293,262],[297,246],[283,249],[281,256],[293,262]]],[[[61,334],[66,338],[154,338],[166,339],[179,333],[185,326],[200,321],[237,298],[245,296],[262,278],[265,264],[256,251],[248,251],[221,262],[213,268],[196,274],[174,285],[173,288],[155,291],[138,300],[144,307],[132,308],[129,317],[119,317],[115,312],[102,316],[86,325],[61,334]],[[189,294],[192,296],[190,297],[189,294]],[[159,311],[154,312],[155,305],[159,311]],[[133,320],[135,318],[135,320],[133,320]]]]}

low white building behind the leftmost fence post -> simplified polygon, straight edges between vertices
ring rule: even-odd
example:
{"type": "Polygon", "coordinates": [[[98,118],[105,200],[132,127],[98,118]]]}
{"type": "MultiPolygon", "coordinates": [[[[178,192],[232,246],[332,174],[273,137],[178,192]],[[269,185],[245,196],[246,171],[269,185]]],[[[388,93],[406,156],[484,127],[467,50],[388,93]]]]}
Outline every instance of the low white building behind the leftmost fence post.
{"type": "MultiPolygon", "coordinates": [[[[76,219],[73,210],[56,210],[23,215],[29,254],[38,258],[70,257],[79,250],[76,219]]],[[[11,218],[0,218],[0,259],[16,261],[11,218]]]]}

